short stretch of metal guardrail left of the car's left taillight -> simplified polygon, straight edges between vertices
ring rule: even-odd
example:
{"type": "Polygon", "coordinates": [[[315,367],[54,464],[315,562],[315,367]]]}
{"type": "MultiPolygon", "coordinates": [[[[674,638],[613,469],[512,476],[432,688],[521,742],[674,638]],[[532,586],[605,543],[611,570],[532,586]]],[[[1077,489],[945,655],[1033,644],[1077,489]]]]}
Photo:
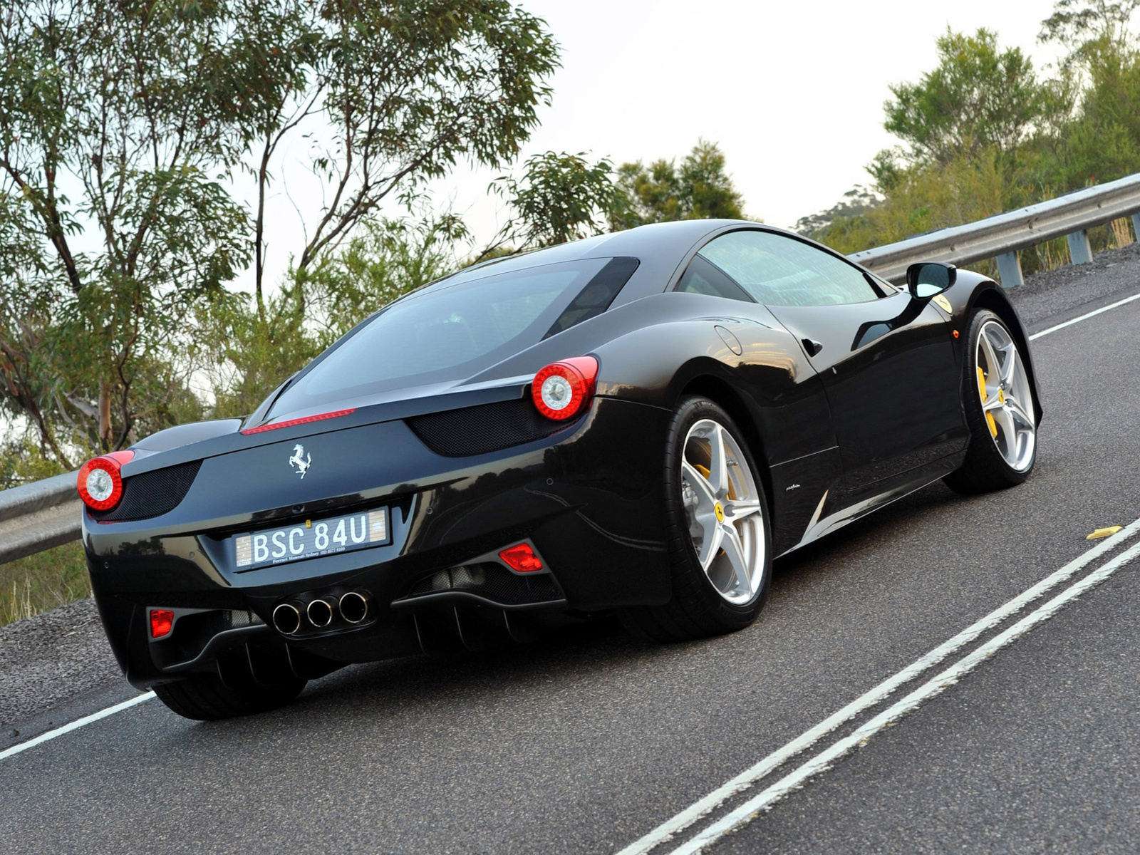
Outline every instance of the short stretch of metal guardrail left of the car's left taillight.
{"type": "Polygon", "coordinates": [[[0,564],[78,540],[82,507],[74,472],[0,491],[0,564]]]}

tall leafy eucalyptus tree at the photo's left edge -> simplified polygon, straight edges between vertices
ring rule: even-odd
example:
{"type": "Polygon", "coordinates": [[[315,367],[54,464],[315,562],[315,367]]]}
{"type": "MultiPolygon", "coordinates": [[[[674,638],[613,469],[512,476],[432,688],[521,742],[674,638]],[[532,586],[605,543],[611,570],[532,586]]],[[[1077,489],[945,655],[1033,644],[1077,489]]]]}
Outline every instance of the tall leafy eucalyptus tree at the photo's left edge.
{"type": "Polygon", "coordinates": [[[42,0],[0,16],[0,406],[65,465],[67,441],[108,449],[156,421],[149,367],[249,256],[212,174],[241,153],[227,11],[42,0]]]}

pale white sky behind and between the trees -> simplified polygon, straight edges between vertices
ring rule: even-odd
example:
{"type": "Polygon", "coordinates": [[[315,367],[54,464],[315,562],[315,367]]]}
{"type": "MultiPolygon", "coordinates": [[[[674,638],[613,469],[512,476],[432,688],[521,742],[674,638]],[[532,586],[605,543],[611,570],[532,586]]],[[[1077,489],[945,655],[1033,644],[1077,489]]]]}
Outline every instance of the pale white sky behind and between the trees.
{"type": "MultiPolygon", "coordinates": [[[[775,226],[830,207],[863,166],[895,144],[882,130],[888,84],[935,65],[947,25],[997,32],[1041,68],[1052,0],[521,0],[562,46],[554,103],[522,156],[588,152],[614,164],[681,157],[699,137],[718,142],[746,212],[775,226]]],[[[299,147],[299,152],[303,152],[299,147]]],[[[520,158],[521,160],[521,158],[520,158]]],[[[302,207],[320,203],[308,166],[288,155],[284,185],[302,207]]],[[[480,242],[504,218],[487,197],[499,172],[461,168],[432,185],[435,205],[462,214],[480,242]]],[[[270,205],[270,280],[300,243],[296,212],[270,205]]]]}

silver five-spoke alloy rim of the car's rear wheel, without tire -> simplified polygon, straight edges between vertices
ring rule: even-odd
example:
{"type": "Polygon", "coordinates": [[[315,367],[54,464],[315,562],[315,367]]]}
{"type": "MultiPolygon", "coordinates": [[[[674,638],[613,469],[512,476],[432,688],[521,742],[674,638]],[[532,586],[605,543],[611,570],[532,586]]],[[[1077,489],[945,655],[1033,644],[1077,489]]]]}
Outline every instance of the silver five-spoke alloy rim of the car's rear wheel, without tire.
{"type": "Polygon", "coordinates": [[[710,418],[685,437],[681,490],[709,583],[734,605],[751,602],[764,583],[767,549],[760,491],[735,438],[710,418]]]}

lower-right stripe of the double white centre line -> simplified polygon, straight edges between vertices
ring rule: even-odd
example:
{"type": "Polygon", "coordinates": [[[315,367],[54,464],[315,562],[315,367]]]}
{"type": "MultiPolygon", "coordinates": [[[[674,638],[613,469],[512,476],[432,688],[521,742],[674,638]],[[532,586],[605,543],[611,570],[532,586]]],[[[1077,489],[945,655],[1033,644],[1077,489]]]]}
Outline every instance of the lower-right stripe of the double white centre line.
{"type": "Polygon", "coordinates": [[[837,741],[826,750],[821,751],[793,772],[784,775],[774,784],[750,798],[735,811],[732,811],[723,819],[709,825],[699,834],[687,840],[684,845],[678,846],[670,853],[670,855],[695,855],[728,831],[738,829],[741,825],[746,825],[759,813],[768,809],[789,792],[801,787],[809,777],[817,775],[821,772],[825,772],[840,757],[849,754],[860,746],[866,744],[866,742],[877,733],[888,727],[907,712],[918,709],[923,701],[928,701],[931,698],[942,694],[942,692],[954,685],[985,659],[992,657],[1007,644],[1012,643],[1037,624],[1049,620],[1049,618],[1053,617],[1053,614],[1056,614],[1062,605],[1076,600],[1081,596],[1081,594],[1094,585],[1099,585],[1126,563],[1132,561],[1137,555],[1140,555],[1140,544],[1133,545],[1126,552],[1121,553],[1100,569],[1093,570],[1078,583],[1066,588],[1048,603],[1021,618],[1021,620],[1017,621],[1004,633],[994,636],[972,653],[963,657],[942,674],[933,677],[927,683],[923,683],[901,701],[883,710],[863,726],[856,728],[849,736],[845,736],[844,739],[837,741]]]}

